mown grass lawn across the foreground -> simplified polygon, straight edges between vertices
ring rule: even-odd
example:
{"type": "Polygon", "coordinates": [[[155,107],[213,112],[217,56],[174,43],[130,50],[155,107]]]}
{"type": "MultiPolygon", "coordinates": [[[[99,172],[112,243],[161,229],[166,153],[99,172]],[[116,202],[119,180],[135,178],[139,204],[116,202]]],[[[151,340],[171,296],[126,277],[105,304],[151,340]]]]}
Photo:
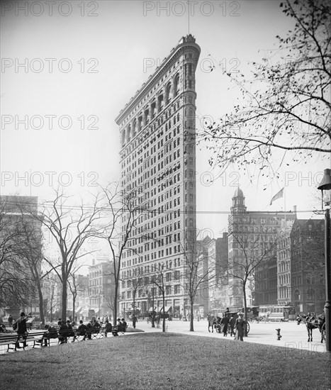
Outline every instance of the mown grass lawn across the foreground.
{"type": "Polygon", "coordinates": [[[330,354],[137,333],[0,355],[0,389],[331,389],[330,354]]]}

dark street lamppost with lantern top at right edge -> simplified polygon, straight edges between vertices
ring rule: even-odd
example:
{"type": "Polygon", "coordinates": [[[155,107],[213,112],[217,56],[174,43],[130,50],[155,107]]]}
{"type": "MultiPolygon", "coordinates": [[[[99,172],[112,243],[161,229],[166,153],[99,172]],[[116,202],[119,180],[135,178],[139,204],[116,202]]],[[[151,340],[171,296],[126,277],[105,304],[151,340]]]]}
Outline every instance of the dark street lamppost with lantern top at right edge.
{"type": "Polygon", "coordinates": [[[331,264],[330,264],[330,202],[331,169],[324,169],[324,177],[318,189],[322,191],[322,209],[325,206],[325,346],[330,352],[330,303],[331,303],[331,264]]]}

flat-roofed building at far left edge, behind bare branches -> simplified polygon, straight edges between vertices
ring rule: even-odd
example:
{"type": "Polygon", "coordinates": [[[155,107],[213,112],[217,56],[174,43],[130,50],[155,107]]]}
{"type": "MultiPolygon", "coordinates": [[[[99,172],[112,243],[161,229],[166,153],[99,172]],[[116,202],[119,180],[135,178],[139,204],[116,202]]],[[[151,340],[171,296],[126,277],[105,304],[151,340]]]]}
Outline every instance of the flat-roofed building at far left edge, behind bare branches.
{"type": "Polygon", "coordinates": [[[0,196],[0,310],[40,317],[42,262],[37,196],[0,196]]]}

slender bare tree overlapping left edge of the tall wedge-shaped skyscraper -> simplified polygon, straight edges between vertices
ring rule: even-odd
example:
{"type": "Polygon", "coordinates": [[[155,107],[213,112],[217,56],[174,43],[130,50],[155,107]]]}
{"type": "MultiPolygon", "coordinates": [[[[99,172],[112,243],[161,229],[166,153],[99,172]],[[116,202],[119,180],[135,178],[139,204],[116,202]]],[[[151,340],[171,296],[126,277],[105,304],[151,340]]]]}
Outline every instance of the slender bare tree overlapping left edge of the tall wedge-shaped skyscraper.
{"type": "Polygon", "coordinates": [[[111,248],[112,276],[114,280],[113,292],[113,324],[116,325],[118,311],[118,296],[120,287],[120,267],[123,261],[124,251],[130,247],[130,240],[134,238],[133,233],[138,221],[141,207],[138,191],[125,194],[120,191],[118,184],[109,184],[103,189],[106,206],[104,214],[110,220],[109,228],[105,234],[109,247],[111,248]]]}

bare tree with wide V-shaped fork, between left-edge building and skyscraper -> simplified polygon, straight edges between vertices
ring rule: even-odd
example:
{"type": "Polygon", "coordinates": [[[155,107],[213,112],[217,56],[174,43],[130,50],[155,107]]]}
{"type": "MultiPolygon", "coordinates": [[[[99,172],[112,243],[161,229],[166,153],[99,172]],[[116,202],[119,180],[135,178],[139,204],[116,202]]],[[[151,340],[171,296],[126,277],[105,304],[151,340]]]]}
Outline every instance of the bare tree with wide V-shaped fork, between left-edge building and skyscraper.
{"type": "Polygon", "coordinates": [[[62,318],[67,318],[67,288],[68,279],[74,269],[74,264],[90,252],[84,252],[84,245],[89,238],[99,237],[105,227],[101,225],[101,207],[99,196],[94,198],[94,204],[73,206],[67,204],[70,197],[64,196],[60,189],[55,191],[55,199],[46,202],[43,213],[36,217],[55,239],[60,251],[60,263],[47,260],[55,270],[62,283],[62,318]]]}

